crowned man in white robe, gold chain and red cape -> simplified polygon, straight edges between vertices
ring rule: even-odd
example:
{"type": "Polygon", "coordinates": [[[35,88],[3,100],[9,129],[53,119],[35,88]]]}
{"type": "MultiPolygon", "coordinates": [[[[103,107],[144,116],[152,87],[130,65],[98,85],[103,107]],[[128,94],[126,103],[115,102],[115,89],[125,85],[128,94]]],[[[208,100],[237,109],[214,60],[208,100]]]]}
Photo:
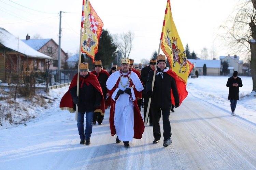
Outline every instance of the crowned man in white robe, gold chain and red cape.
{"type": "Polygon", "coordinates": [[[122,58],[120,71],[112,73],[106,85],[113,99],[109,118],[111,135],[117,134],[116,143],[122,140],[125,148],[129,148],[129,141],[141,139],[145,128],[137,104],[143,86],[137,74],[129,69],[129,58],[122,58]]]}

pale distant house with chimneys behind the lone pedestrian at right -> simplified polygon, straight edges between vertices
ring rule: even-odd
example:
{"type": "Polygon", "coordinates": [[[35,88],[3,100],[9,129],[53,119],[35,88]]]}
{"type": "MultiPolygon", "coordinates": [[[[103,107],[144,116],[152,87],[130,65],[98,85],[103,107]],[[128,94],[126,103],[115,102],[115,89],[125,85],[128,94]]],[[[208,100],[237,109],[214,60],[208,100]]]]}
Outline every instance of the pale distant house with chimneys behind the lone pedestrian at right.
{"type": "Polygon", "coordinates": [[[239,56],[230,56],[228,54],[228,56],[219,56],[219,59],[222,62],[226,61],[228,63],[230,75],[233,74],[234,71],[238,71],[238,75],[243,74],[243,61],[239,60],[239,56]]]}

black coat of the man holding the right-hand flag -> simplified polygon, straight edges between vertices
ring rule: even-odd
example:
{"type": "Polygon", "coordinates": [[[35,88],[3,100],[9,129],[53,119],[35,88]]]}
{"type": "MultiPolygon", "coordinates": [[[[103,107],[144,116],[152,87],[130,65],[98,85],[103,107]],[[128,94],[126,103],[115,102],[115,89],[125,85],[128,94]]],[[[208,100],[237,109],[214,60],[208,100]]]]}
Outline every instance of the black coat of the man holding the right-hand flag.
{"type": "MultiPolygon", "coordinates": [[[[160,71],[160,69],[158,68],[157,71],[160,71]]],[[[146,83],[147,92],[152,91],[153,76],[154,70],[151,70],[148,74],[148,79],[146,83]]],[[[160,108],[171,108],[171,90],[174,97],[174,103],[180,103],[175,79],[167,72],[163,72],[163,79],[160,74],[156,75],[151,106],[160,108]]]]}

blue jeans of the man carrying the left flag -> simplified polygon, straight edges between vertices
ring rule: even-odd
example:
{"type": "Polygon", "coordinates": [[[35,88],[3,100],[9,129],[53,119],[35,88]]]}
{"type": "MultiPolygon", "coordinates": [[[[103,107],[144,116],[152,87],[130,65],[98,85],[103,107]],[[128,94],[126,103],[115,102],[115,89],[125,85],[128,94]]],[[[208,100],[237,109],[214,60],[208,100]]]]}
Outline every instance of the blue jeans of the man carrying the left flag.
{"type": "Polygon", "coordinates": [[[93,131],[93,114],[94,111],[92,112],[77,112],[77,129],[78,133],[80,135],[80,139],[90,139],[91,133],[93,131]],[[84,131],[84,114],[85,114],[85,131],[84,131]]]}

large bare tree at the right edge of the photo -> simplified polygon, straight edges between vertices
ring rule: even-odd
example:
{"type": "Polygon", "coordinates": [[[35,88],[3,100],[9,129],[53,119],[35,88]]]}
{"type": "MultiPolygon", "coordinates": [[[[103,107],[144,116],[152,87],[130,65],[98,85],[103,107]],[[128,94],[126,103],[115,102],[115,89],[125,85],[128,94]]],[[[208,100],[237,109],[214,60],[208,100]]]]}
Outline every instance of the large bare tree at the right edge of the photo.
{"type": "Polygon", "coordinates": [[[230,16],[220,26],[225,30],[222,38],[228,43],[234,53],[242,53],[247,56],[251,65],[253,79],[253,91],[256,91],[256,0],[240,1],[230,16]]]}

